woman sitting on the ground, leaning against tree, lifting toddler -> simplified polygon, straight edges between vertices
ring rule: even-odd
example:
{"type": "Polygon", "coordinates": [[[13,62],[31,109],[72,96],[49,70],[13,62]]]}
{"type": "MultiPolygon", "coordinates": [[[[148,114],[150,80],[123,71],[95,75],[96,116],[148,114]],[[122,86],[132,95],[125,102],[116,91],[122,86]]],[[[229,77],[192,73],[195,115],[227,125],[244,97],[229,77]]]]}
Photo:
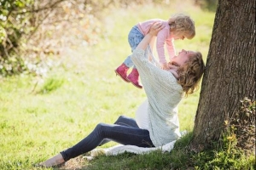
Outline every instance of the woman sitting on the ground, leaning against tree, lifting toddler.
{"type": "Polygon", "coordinates": [[[151,38],[162,28],[160,23],[154,23],[131,56],[148,97],[138,108],[136,119],[119,116],[113,125],[99,123],[78,144],[41,162],[41,167],[63,164],[73,157],[106,144],[109,140],[139,147],[157,147],[178,139],[180,133],[177,105],[183,94],[194,92],[205,65],[201,53],[186,50],[182,50],[169,62],[169,71],[153,65],[145,55],[145,50],[151,38]]]}

